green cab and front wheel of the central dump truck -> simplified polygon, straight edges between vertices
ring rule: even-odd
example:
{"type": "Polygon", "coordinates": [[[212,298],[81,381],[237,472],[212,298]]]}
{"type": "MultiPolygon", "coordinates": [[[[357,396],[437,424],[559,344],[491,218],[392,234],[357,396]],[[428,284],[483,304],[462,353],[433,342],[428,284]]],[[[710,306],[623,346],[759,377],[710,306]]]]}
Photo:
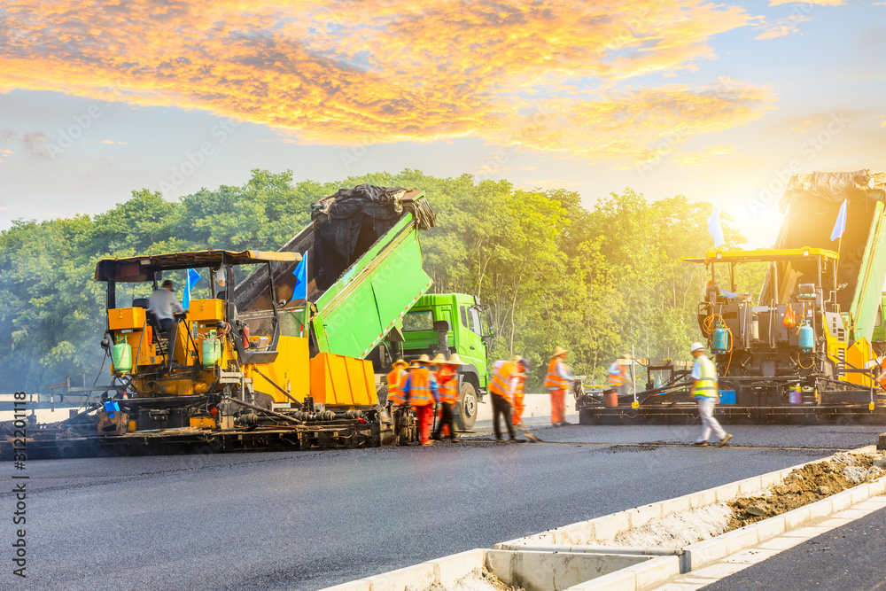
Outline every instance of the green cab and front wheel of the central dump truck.
{"type": "Polygon", "coordinates": [[[487,350],[494,336],[487,308],[476,296],[464,293],[425,294],[403,316],[403,355],[457,353],[459,369],[459,408],[455,414],[463,430],[474,426],[477,404],[486,395],[487,350]]]}

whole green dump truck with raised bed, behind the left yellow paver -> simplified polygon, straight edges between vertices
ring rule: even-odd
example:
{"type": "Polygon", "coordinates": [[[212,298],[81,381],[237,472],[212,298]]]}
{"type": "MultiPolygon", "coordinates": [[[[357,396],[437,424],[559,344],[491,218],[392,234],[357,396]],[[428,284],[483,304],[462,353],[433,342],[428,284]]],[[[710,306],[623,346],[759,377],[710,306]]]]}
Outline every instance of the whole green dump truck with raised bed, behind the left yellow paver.
{"type": "MultiPolygon", "coordinates": [[[[360,185],[324,197],[312,209],[312,222],[280,248],[307,260],[305,292],[295,293],[298,263],[270,271],[281,332],[307,335],[312,356],[370,360],[380,401],[386,399],[393,361],[458,353],[468,365],[459,371],[456,416],[462,429],[470,429],[486,394],[486,351],[493,335],[474,296],[426,293],[433,282],[422,268],[420,235],[433,227],[436,215],[424,191],[360,185]]],[[[270,307],[268,292],[260,288],[267,275],[261,268],[237,285],[238,309],[270,307]]]]}

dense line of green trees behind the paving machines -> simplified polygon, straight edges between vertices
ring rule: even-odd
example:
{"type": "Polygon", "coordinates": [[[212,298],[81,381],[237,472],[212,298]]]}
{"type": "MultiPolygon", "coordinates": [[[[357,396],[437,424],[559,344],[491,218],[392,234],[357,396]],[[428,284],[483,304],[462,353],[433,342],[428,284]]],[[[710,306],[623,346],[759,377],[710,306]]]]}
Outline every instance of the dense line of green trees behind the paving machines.
{"type": "MultiPolygon", "coordinates": [[[[104,214],[19,220],[0,232],[4,390],[46,392],[65,376],[85,374],[90,384],[97,377],[106,322],[105,284],[93,279],[100,259],[208,247],[276,250],[310,221],[312,202],[361,183],[427,191],[438,223],[422,237],[432,291],[478,295],[491,307],[490,356],[529,359],[531,391],[540,388],[557,345],[571,350],[576,373],[599,381],[618,354],[684,359],[699,338],[703,267],[680,256],[713,247],[709,203],[649,200],[626,189],[587,208],[575,191],[522,191],[467,174],[444,179],[407,169],[293,183],[290,171],[253,170],[239,187],[177,201],[133,191],[104,214]]],[[[744,242],[727,221],[724,231],[727,246],[744,242]]],[[[748,284],[758,275],[746,277],[748,284]]]]}

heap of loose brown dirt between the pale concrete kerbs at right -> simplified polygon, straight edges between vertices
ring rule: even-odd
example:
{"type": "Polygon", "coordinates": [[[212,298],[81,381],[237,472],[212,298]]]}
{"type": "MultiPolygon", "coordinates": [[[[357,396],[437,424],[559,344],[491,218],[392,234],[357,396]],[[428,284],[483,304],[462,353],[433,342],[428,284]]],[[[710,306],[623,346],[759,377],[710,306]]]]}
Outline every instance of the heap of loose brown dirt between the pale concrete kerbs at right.
{"type": "Polygon", "coordinates": [[[765,494],[739,497],[729,502],[733,513],[729,529],[787,513],[882,476],[882,470],[873,465],[874,455],[841,453],[825,462],[809,463],[791,470],[783,484],[772,486],[765,494]]]}

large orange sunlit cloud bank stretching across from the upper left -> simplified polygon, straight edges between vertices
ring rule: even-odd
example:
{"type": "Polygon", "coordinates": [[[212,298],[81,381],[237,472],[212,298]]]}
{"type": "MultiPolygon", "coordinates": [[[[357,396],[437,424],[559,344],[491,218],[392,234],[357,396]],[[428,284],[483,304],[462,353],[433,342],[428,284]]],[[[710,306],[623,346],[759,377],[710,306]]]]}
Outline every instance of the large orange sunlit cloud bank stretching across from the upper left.
{"type": "MultiPolygon", "coordinates": [[[[588,154],[643,151],[615,141],[612,152],[609,133],[592,134],[607,144],[591,145],[556,126],[549,136],[558,140],[514,136],[515,125],[531,125],[525,96],[544,97],[571,113],[566,119],[654,139],[709,102],[706,91],[556,97],[574,94],[570,85],[579,82],[602,87],[693,69],[714,57],[712,35],[751,21],[740,7],[705,0],[59,0],[7,4],[4,19],[0,92],[206,110],[303,143],[525,136],[533,149],[571,145],[588,154]],[[652,118],[633,112],[649,103],[652,118]],[[654,118],[665,128],[644,131],[654,118]]],[[[719,124],[688,126],[703,133],[746,121],[751,104],[765,103],[748,98],[719,97],[719,124]],[[726,108],[731,100],[737,114],[726,108]]]]}

